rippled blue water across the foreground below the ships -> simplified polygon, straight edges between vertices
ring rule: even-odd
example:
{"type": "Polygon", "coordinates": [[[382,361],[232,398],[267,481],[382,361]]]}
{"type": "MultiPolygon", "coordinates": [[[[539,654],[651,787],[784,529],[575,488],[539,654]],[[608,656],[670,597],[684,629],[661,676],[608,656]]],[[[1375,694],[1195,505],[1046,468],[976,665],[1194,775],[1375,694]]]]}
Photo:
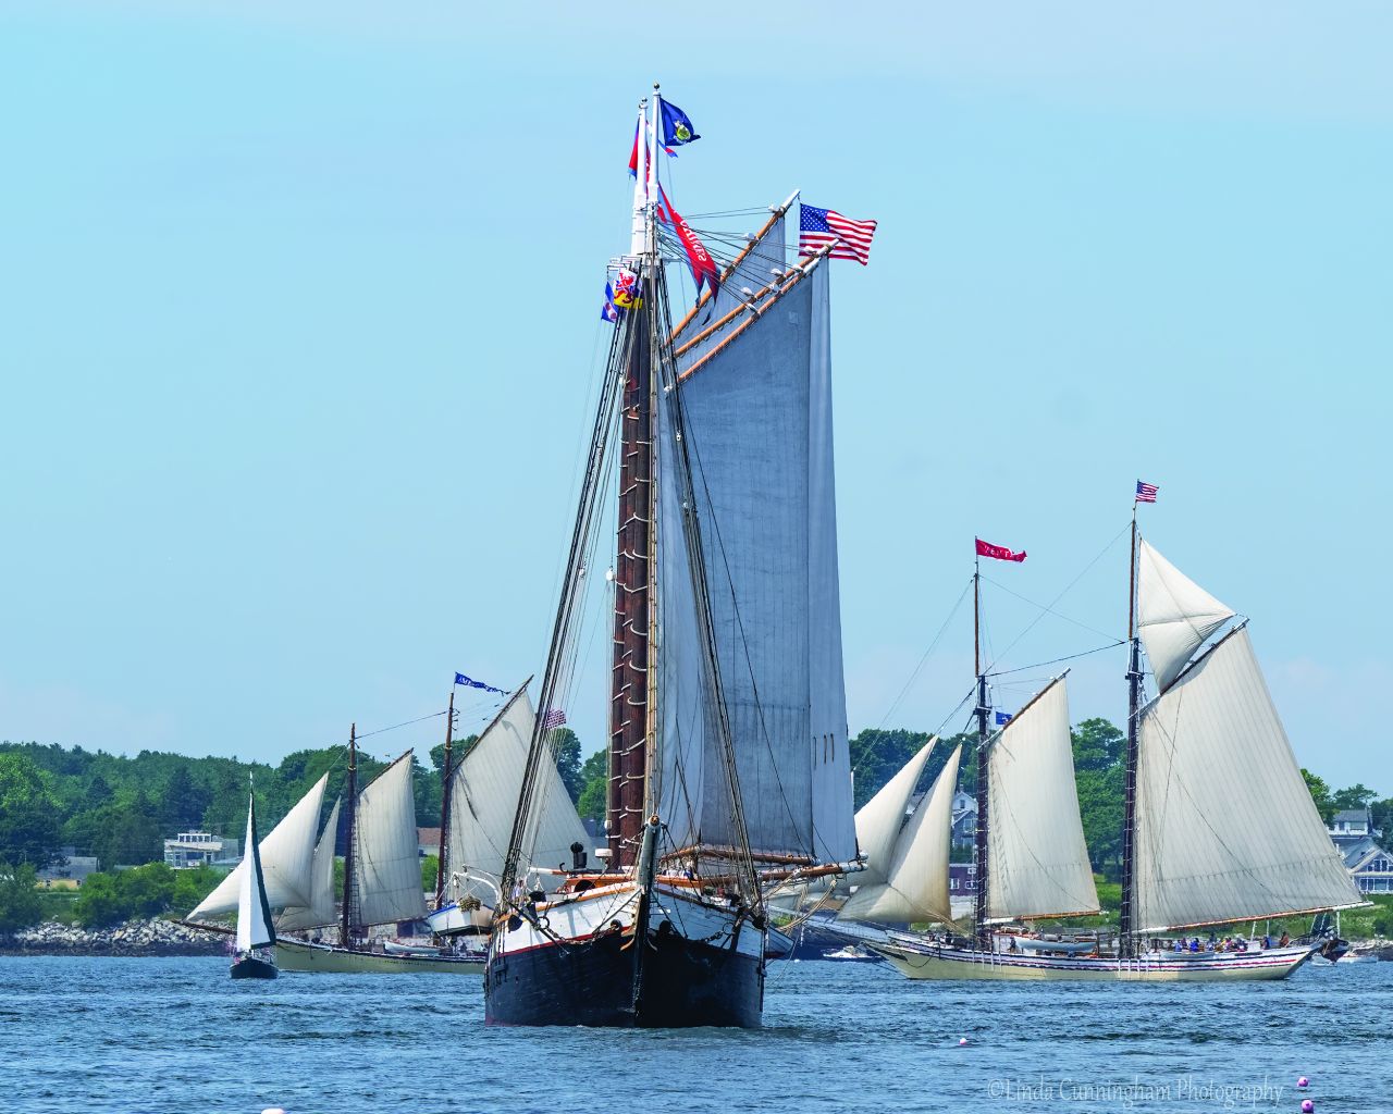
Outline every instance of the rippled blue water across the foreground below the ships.
{"type": "Polygon", "coordinates": [[[1393,1111],[1393,964],[1227,987],[772,972],[761,1032],[527,1030],[483,1026],[476,976],[0,958],[0,1095],[25,1114],[1393,1111]]]}

